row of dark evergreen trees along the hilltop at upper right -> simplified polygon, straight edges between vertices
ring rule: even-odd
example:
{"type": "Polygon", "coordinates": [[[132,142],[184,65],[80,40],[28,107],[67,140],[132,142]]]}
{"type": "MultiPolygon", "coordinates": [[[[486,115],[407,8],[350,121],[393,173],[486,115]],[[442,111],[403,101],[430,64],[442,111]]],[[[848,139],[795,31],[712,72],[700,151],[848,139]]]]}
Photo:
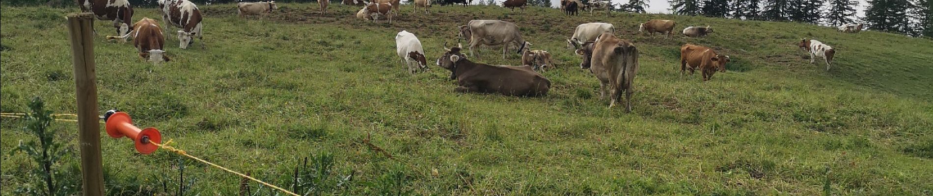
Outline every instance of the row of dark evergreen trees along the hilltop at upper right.
{"type": "MultiPolygon", "coordinates": [[[[643,1],[643,0],[631,0],[643,1]]],[[[681,15],[743,20],[799,21],[839,26],[862,20],[875,31],[933,37],[929,0],[869,0],[856,19],[857,0],[669,0],[681,15]]]]}

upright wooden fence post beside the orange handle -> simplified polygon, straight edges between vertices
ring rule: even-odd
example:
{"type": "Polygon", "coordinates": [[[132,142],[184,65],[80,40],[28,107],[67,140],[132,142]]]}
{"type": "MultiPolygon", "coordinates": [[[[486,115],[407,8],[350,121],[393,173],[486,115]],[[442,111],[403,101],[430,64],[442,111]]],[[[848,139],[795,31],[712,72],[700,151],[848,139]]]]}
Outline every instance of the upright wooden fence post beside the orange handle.
{"type": "Polygon", "coordinates": [[[81,150],[84,195],[104,195],[104,163],[101,158],[101,124],[97,113],[97,77],[94,72],[94,38],[91,13],[68,15],[77,90],[77,136],[81,150]]]}

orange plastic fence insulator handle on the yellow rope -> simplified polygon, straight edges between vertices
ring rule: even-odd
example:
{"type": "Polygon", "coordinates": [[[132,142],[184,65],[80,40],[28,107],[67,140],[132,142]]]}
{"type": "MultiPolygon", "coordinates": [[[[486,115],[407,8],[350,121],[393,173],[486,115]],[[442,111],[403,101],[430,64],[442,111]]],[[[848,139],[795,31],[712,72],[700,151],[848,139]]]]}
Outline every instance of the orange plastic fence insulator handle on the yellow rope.
{"type": "Polygon", "coordinates": [[[135,143],[136,150],[143,154],[149,154],[159,149],[153,143],[161,143],[162,135],[159,130],[153,127],[140,130],[132,125],[130,114],[123,111],[107,111],[104,114],[104,129],[107,135],[114,138],[130,137],[135,143]]]}

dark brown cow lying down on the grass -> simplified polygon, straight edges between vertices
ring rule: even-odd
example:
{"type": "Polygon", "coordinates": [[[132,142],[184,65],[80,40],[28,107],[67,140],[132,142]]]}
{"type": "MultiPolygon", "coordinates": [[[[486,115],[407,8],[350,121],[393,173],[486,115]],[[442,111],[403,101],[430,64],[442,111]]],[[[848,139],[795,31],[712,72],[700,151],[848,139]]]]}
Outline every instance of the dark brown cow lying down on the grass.
{"type": "Polygon", "coordinates": [[[438,58],[438,66],[451,71],[451,79],[457,80],[457,92],[498,93],[505,96],[545,96],[550,90],[550,81],[532,70],[531,66],[495,66],[474,63],[460,51],[462,46],[447,48],[438,58]]]}

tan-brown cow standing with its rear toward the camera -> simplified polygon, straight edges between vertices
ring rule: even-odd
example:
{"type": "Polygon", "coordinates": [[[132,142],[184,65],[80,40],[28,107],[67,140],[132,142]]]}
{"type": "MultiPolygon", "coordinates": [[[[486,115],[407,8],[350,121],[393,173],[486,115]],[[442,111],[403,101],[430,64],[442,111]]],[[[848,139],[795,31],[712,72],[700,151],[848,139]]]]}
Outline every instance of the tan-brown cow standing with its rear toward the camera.
{"type": "Polygon", "coordinates": [[[625,91],[625,112],[632,111],[632,81],[638,72],[638,49],[634,44],[603,33],[596,42],[587,42],[578,49],[577,54],[583,56],[580,68],[590,69],[599,79],[600,98],[606,98],[608,88],[609,108],[620,102],[625,91]]]}

